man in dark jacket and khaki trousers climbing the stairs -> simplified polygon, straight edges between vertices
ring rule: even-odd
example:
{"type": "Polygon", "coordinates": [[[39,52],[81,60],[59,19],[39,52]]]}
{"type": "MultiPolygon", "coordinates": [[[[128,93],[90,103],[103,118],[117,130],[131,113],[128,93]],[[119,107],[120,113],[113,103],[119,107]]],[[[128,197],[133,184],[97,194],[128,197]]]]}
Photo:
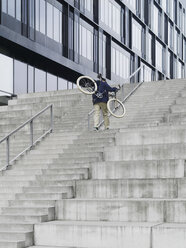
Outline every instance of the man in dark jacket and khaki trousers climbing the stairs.
{"type": "Polygon", "coordinates": [[[104,126],[105,129],[109,129],[109,118],[108,118],[108,109],[107,102],[109,100],[108,92],[116,92],[118,89],[116,87],[110,87],[106,80],[102,78],[101,73],[98,74],[97,92],[93,94],[92,101],[94,105],[94,130],[98,130],[99,119],[100,119],[100,110],[103,114],[104,126]]]}

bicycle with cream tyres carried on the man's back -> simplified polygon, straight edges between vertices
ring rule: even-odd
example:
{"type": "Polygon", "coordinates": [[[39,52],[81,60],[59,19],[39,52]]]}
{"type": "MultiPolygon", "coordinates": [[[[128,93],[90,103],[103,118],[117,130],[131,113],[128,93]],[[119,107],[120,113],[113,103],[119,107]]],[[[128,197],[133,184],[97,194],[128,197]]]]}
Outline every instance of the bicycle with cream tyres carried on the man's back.
{"type": "MultiPolygon", "coordinates": [[[[102,98],[104,93],[97,92],[97,84],[96,82],[88,76],[81,76],[76,81],[78,89],[87,95],[96,94],[98,98],[102,98]]],[[[119,89],[120,90],[120,87],[119,89]]],[[[116,117],[122,118],[125,113],[126,109],[124,104],[116,98],[117,92],[109,93],[109,101],[107,102],[107,108],[109,113],[116,117]]]]}

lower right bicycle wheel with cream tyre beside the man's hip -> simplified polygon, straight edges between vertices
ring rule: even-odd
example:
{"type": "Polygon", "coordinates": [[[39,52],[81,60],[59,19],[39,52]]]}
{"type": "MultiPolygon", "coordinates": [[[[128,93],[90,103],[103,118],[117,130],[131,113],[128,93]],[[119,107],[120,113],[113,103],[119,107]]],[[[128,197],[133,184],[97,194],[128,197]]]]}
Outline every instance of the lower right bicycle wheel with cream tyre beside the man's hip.
{"type": "Polygon", "coordinates": [[[122,118],[126,113],[126,109],[123,103],[115,98],[110,99],[107,102],[107,108],[109,113],[116,118],[122,118]]]}

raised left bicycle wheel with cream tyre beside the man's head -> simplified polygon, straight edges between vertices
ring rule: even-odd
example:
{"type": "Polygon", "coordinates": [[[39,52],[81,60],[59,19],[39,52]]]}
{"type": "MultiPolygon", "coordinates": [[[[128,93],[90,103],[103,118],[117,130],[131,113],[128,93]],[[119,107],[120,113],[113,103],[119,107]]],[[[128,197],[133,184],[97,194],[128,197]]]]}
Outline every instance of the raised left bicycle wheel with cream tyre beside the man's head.
{"type": "Polygon", "coordinates": [[[76,83],[78,89],[87,95],[93,95],[97,91],[97,84],[91,77],[81,76],[76,83]]]}

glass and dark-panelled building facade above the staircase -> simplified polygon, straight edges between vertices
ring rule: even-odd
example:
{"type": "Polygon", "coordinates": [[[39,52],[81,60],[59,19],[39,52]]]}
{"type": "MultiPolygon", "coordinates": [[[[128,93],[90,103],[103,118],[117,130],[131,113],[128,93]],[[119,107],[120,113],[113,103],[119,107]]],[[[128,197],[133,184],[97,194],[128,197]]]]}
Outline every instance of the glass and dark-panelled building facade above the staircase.
{"type": "Polygon", "coordinates": [[[0,0],[0,90],[71,89],[98,72],[122,83],[141,65],[145,81],[184,78],[185,63],[178,0],[0,0]]]}

